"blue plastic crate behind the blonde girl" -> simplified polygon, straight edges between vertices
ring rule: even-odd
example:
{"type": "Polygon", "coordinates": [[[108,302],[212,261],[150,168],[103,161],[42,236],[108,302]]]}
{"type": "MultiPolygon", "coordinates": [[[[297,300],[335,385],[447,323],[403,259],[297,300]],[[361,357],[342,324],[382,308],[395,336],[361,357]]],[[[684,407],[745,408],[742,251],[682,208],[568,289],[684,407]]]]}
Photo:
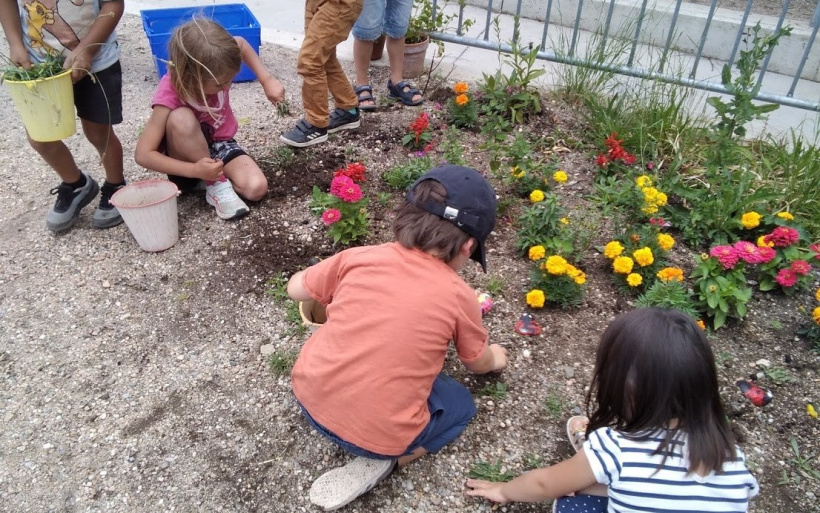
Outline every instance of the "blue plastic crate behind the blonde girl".
{"type": "MultiPolygon", "coordinates": [[[[219,4],[207,7],[175,7],[171,9],[146,9],[140,11],[142,28],[148,36],[157,75],[162,77],[168,70],[163,60],[168,60],[168,41],[174,29],[195,16],[211,18],[233,36],[241,36],[259,53],[261,29],[259,21],[245,4],[219,4]],[[162,60],[161,60],[162,59],[162,60]]],[[[244,64],[234,82],[256,80],[256,75],[244,64]]]]}

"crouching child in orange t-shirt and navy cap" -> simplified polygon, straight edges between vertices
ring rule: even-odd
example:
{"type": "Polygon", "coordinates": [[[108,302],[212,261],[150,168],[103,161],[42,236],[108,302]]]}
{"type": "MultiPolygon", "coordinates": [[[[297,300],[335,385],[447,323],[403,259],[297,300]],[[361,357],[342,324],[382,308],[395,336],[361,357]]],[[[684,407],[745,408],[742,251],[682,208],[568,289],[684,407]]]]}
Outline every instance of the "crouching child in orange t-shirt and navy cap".
{"type": "Polygon", "coordinates": [[[476,408],[441,373],[451,340],[471,372],[506,367],[506,350],[488,345],[475,292],[457,273],[471,258],[486,271],[495,210],[475,170],[433,169],[397,211],[395,242],[348,249],[290,279],[291,298],[327,306],[293,368],[293,393],[311,426],[357,456],[313,483],[314,504],[340,508],[396,463],[437,452],[464,430],[476,408]]]}

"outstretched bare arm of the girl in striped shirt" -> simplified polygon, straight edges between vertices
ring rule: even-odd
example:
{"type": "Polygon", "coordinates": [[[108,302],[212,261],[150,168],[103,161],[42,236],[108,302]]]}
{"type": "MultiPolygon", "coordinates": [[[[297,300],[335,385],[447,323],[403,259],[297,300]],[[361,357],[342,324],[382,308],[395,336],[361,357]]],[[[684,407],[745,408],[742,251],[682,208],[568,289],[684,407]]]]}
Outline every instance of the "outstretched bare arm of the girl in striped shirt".
{"type": "Polygon", "coordinates": [[[539,502],[563,497],[592,486],[597,481],[586,453],[579,451],[557,465],[522,474],[509,483],[491,483],[468,479],[467,495],[484,497],[493,502],[539,502]]]}

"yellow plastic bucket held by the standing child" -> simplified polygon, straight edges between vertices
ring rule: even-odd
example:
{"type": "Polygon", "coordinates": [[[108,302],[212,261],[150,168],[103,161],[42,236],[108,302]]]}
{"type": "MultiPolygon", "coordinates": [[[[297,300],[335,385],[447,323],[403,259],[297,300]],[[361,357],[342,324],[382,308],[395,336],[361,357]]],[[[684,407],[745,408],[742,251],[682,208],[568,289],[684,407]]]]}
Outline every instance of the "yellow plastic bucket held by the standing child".
{"type": "Polygon", "coordinates": [[[49,78],[5,83],[32,139],[60,141],[77,131],[71,70],[49,78]]]}

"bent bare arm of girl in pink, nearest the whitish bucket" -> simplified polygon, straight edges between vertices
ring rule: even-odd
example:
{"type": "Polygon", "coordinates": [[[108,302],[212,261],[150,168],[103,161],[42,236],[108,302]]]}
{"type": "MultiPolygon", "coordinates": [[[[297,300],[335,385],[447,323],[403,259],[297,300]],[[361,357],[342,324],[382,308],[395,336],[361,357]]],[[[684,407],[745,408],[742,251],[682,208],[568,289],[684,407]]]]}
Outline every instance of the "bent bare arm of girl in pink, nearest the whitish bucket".
{"type": "Polygon", "coordinates": [[[165,137],[165,124],[171,109],[157,105],[151,111],[151,117],[137,139],[134,160],[142,167],[159,171],[166,175],[186,176],[202,180],[218,180],[222,175],[222,161],[210,157],[197,162],[183,162],[159,151],[165,137]]]}

